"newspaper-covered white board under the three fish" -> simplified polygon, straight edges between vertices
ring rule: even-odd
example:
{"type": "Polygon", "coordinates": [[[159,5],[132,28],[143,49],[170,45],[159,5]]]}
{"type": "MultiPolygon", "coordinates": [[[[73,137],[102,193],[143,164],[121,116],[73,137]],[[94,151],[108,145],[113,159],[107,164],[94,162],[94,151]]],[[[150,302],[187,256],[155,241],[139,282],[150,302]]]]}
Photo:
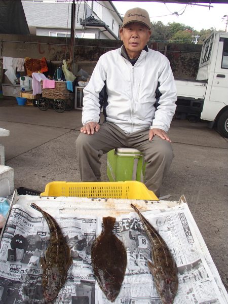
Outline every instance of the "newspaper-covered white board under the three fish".
{"type": "Polygon", "coordinates": [[[0,304],[48,303],[43,296],[40,259],[50,233],[42,214],[31,202],[49,212],[61,227],[73,263],[55,303],[108,304],[91,265],[91,245],[102,231],[102,214],[115,216],[113,232],[127,251],[127,269],[118,304],[162,304],[153,276],[148,237],[130,203],[159,231],[178,267],[175,304],[223,304],[228,296],[206,244],[187,204],[133,200],[91,200],[17,196],[4,227],[0,248],[0,304]],[[152,209],[152,210],[151,210],[152,209]]]}

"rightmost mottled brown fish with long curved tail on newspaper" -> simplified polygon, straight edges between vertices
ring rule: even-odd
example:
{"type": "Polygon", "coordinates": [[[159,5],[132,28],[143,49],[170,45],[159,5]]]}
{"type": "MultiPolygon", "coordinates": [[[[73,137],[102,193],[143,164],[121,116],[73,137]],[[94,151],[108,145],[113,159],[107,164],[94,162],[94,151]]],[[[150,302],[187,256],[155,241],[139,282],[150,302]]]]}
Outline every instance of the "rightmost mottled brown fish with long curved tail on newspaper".
{"type": "Polygon", "coordinates": [[[178,289],[176,262],[163,238],[140,211],[131,204],[139,215],[142,225],[151,243],[152,261],[148,261],[148,268],[154,277],[158,293],[163,304],[172,304],[178,289]]]}

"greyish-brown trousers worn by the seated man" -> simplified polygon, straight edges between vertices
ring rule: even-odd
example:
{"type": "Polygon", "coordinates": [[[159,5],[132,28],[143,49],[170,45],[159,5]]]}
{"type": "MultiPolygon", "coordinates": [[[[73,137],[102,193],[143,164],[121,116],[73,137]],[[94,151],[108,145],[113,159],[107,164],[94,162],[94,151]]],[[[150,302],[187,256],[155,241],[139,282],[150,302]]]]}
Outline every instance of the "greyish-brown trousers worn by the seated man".
{"type": "Polygon", "coordinates": [[[102,123],[93,135],[80,133],[76,140],[77,157],[82,181],[101,181],[100,158],[109,150],[129,147],[140,150],[145,158],[145,185],[158,197],[162,180],[173,160],[171,143],[154,136],[149,141],[149,130],[124,133],[112,123],[102,123]]]}

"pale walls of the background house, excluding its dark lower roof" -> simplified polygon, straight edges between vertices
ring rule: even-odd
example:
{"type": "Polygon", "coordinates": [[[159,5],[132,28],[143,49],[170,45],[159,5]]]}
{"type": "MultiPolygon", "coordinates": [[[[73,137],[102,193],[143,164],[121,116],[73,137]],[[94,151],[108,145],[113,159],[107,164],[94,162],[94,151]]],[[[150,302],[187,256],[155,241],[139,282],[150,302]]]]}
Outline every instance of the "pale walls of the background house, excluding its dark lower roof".
{"type": "MultiPolygon", "coordinates": [[[[1,1],[1,0],[0,0],[1,1]]],[[[56,3],[56,2],[29,2],[22,0],[23,9],[27,19],[28,26],[32,30],[32,34],[36,35],[48,35],[50,31],[66,32],[70,33],[70,21],[71,21],[71,2],[56,3]]],[[[110,7],[111,5],[107,1],[88,1],[86,6],[85,2],[79,5],[76,4],[75,10],[75,31],[84,31],[84,27],[80,24],[80,18],[86,19],[91,16],[91,7],[93,7],[94,18],[100,19],[109,25],[109,29],[112,30],[112,19],[114,20],[113,33],[119,36],[119,23],[120,19],[116,13],[111,12],[104,6],[110,7]]],[[[86,28],[86,32],[96,33],[96,39],[98,39],[98,29],[86,28]]],[[[100,33],[100,39],[108,39],[105,33],[100,33]]]]}

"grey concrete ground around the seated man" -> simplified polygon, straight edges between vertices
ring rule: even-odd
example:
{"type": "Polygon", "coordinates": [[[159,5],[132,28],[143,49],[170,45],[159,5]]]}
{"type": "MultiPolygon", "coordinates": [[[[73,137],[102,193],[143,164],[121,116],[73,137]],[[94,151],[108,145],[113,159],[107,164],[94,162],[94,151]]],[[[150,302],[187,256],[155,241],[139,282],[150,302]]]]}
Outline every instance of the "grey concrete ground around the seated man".
{"type": "MultiPolygon", "coordinates": [[[[57,113],[34,106],[18,106],[13,97],[0,99],[0,137],[6,165],[14,168],[15,187],[44,191],[50,181],[80,181],[75,139],[80,133],[80,110],[57,113]]],[[[175,158],[164,179],[162,195],[178,200],[182,194],[228,290],[228,141],[206,122],[174,120],[169,136],[175,158]]],[[[102,179],[107,181],[106,156],[102,179]]]]}

